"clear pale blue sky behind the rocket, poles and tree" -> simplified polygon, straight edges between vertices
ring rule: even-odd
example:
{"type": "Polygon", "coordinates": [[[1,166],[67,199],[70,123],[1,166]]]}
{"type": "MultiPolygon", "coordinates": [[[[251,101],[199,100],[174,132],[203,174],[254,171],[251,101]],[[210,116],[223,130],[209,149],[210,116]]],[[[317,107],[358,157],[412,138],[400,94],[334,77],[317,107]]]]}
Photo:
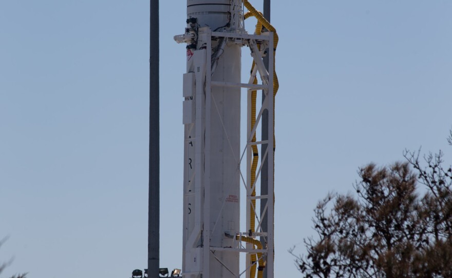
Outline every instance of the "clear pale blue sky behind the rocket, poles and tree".
{"type": "MultiPolygon", "coordinates": [[[[262,1],[253,0],[261,9],[262,1]]],[[[130,277],[146,267],[148,1],[0,0],[1,277],[130,277]]],[[[181,266],[185,2],[161,1],[161,266],[181,266]]],[[[443,149],[452,2],[273,1],[276,277],[315,203],[368,162],[443,149]]],[[[254,30],[254,22],[247,23],[254,30]]],[[[242,50],[243,76],[249,50],[242,50]]]]}

